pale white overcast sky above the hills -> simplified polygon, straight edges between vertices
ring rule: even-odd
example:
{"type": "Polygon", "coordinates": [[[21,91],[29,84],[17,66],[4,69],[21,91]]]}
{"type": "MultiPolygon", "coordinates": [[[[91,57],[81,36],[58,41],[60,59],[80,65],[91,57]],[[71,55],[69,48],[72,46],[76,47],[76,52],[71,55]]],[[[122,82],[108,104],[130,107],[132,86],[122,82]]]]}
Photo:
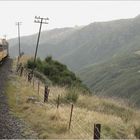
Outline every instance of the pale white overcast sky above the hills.
{"type": "Polygon", "coordinates": [[[48,17],[42,30],[88,25],[93,22],[134,18],[140,14],[140,1],[0,1],[0,37],[37,33],[34,17],[48,17]]]}

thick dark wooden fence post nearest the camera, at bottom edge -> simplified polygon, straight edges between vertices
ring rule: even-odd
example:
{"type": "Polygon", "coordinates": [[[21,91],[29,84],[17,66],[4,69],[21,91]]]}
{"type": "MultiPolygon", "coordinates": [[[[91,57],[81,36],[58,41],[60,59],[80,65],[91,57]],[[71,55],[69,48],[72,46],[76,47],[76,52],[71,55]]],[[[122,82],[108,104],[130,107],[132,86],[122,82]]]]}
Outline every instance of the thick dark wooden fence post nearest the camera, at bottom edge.
{"type": "Polygon", "coordinates": [[[94,124],[94,134],[93,139],[100,139],[100,133],[101,133],[101,124],[94,124]]]}

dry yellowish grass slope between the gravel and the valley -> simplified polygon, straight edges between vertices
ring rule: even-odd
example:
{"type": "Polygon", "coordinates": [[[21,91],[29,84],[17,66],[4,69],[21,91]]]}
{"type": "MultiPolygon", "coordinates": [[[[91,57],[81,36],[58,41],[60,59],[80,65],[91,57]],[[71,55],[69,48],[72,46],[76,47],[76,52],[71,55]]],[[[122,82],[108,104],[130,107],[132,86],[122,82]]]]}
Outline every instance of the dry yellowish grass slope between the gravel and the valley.
{"type": "Polygon", "coordinates": [[[11,110],[29,123],[39,138],[92,138],[94,123],[102,124],[102,138],[135,138],[134,128],[140,125],[138,110],[113,99],[81,94],[74,105],[72,127],[68,131],[70,104],[61,104],[56,109],[58,94],[63,98],[68,90],[57,86],[49,88],[49,102],[42,104],[43,85],[38,96],[37,83],[33,89],[25,77],[12,74],[7,83],[6,93],[11,110]],[[40,102],[26,103],[28,96],[37,96],[40,102]]]}

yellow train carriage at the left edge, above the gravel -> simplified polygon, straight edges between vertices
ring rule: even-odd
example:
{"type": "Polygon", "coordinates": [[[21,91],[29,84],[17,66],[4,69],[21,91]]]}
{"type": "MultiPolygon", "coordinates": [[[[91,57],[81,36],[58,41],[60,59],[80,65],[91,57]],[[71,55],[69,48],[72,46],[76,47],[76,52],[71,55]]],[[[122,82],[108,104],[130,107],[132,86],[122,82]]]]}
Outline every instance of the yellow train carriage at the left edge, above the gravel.
{"type": "Polygon", "coordinates": [[[6,39],[0,39],[0,62],[9,56],[9,43],[6,39]]]}

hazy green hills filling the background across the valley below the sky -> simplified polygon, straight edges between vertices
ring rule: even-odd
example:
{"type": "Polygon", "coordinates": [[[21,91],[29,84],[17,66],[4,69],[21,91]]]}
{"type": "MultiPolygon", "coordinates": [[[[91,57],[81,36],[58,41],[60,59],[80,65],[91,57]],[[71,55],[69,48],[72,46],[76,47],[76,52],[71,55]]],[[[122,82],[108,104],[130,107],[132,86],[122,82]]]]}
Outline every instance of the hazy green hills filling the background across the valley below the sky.
{"type": "MultiPolygon", "coordinates": [[[[21,38],[22,49],[33,55],[37,35],[21,38]]],[[[11,39],[11,55],[17,55],[17,39],[11,39]]],[[[74,70],[93,91],[140,102],[140,16],[95,22],[79,28],[44,31],[38,56],[52,55],[74,70]],[[135,78],[137,80],[135,80],[135,78]],[[101,92],[102,91],[102,92],[101,92]]]]}

